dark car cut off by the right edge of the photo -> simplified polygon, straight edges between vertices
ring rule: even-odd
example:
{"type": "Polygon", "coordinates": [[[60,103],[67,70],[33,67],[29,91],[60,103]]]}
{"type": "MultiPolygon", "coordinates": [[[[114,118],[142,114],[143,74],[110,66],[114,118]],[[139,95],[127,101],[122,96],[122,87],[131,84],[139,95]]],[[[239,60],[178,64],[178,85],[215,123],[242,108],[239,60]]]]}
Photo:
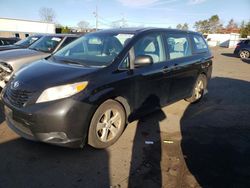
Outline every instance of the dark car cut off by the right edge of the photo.
{"type": "Polygon", "coordinates": [[[234,50],[234,54],[241,59],[250,58],[250,39],[240,41],[234,50]]]}

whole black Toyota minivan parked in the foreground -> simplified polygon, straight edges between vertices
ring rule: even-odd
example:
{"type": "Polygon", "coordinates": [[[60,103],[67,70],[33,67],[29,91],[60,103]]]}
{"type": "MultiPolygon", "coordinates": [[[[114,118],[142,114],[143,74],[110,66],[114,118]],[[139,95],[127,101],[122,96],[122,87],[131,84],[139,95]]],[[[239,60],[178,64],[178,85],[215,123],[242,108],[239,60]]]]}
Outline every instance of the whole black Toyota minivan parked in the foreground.
{"type": "Polygon", "coordinates": [[[102,30],[24,67],[2,91],[6,122],[30,140],[112,145],[149,111],[206,92],[212,55],[196,32],[102,30]]]}

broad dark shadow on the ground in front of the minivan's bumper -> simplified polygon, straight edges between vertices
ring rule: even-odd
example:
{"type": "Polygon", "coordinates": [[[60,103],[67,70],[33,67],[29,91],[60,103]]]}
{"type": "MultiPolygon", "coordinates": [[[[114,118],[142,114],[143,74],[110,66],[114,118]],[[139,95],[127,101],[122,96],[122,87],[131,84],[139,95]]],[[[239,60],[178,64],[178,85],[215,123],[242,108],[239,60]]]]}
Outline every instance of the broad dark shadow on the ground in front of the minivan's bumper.
{"type": "Polygon", "coordinates": [[[110,187],[109,154],[19,138],[0,144],[0,187],[110,187]]]}

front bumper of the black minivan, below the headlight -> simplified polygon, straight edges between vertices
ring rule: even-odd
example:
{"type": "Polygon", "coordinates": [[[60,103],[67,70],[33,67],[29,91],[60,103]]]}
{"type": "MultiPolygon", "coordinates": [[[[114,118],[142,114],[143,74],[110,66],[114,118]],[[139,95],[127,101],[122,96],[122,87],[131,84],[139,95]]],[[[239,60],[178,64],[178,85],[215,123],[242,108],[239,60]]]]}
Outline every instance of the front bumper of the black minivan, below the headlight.
{"type": "Polygon", "coordinates": [[[12,106],[3,98],[8,126],[20,136],[66,147],[82,147],[94,106],[72,98],[12,106]]]}

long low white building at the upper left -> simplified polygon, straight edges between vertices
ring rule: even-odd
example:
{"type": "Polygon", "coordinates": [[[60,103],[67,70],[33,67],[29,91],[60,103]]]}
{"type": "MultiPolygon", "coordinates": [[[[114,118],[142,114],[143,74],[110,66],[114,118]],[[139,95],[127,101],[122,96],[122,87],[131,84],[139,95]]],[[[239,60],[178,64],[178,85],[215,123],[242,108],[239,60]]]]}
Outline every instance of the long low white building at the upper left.
{"type": "Polygon", "coordinates": [[[40,21],[0,18],[0,36],[25,38],[31,34],[55,33],[55,24],[40,21]]]}

